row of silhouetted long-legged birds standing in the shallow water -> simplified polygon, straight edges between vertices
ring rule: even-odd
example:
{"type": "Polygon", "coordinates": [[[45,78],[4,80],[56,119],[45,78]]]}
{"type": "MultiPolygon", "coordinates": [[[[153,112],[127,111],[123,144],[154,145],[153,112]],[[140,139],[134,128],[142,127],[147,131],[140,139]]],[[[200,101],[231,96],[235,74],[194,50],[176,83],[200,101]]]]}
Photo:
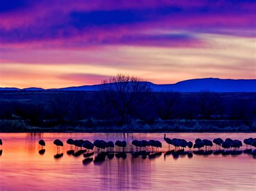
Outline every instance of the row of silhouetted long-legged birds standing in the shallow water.
{"type": "MultiPolygon", "coordinates": [[[[191,148],[198,148],[198,150],[201,150],[202,148],[205,147],[205,149],[207,150],[207,148],[210,148],[213,146],[213,143],[216,145],[216,148],[221,148],[223,147],[224,150],[230,150],[231,148],[233,148],[233,150],[238,150],[241,146],[242,146],[242,142],[240,140],[232,140],[230,138],[226,138],[225,140],[221,139],[221,138],[215,138],[213,139],[213,141],[208,140],[208,139],[199,139],[197,138],[194,142],[194,144],[192,142],[187,142],[185,139],[177,139],[177,138],[167,138],[166,135],[164,134],[164,141],[169,145],[169,149],[170,146],[173,145],[175,149],[185,149],[186,147],[188,147],[189,150],[191,150],[191,148]]],[[[44,140],[39,140],[39,145],[42,146],[42,148],[45,146],[45,141],[44,140]]],[[[112,141],[109,142],[105,142],[104,140],[95,140],[93,143],[90,142],[89,140],[73,140],[73,139],[68,139],[66,141],[67,144],[69,144],[71,146],[71,148],[73,146],[75,146],[75,150],[78,150],[78,148],[85,148],[86,150],[93,150],[94,147],[97,147],[98,150],[103,150],[105,151],[105,149],[109,149],[111,151],[113,151],[114,147],[117,146],[119,151],[122,148],[123,151],[125,151],[125,148],[127,146],[127,143],[125,140],[120,141],[117,140],[115,143],[113,143],[112,141]]],[[[2,145],[2,139],[0,139],[0,145],[2,145]]],[[[57,146],[57,150],[59,150],[60,146],[63,146],[63,142],[59,139],[56,139],[53,144],[55,144],[57,146]]],[[[248,146],[253,146],[256,147],[256,138],[248,138],[248,139],[244,139],[244,144],[246,145],[246,148],[248,146]]],[[[153,151],[154,148],[156,148],[156,150],[159,150],[159,148],[162,147],[161,142],[159,142],[159,140],[133,140],[132,141],[132,145],[136,146],[136,150],[146,150],[147,147],[151,146],[151,150],[153,151]]]]}

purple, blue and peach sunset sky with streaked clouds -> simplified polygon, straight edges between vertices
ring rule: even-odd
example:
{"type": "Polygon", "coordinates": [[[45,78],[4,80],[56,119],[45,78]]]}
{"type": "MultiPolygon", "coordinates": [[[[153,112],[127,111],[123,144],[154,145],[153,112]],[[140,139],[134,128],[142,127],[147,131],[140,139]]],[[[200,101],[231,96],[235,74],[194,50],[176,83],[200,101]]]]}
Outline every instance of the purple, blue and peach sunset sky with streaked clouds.
{"type": "Polygon", "coordinates": [[[0,87],[255,79],[256,3],[0,1],[0,87]]]}

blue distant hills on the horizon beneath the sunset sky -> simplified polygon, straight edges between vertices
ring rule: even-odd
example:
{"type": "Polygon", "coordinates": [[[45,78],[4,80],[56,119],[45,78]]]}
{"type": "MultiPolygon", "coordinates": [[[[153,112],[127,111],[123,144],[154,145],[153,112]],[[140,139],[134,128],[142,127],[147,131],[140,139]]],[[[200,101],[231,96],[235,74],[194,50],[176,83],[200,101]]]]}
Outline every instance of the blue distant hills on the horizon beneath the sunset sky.
{"type": "MultiPolygon", "coordinates": [[[[145,83],[145,82],[142,82],[145,83]]],[[[192,79],[185,80],[174,84],[154,84],[149,85],[154,91],[178,91],[178,92],[199,92],[209,90],[213,92],[256,92],[256,80],[232,80],[232,79],[192,79]]],[[[46,89],[51,91],[97,91],[101,85],[78,86],[58,89],[46,89]]],[[[45,90],[42,88],[0,88],[0,90],[45,90]]]]}

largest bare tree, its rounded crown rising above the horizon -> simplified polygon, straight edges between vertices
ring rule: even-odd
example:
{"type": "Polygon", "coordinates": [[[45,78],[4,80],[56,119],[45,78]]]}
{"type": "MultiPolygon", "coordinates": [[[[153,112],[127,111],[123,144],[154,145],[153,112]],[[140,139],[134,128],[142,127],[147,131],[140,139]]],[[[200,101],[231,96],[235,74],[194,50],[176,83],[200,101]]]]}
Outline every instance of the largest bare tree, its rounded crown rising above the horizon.
{"type": "Polygon", "coordinates": [[[104,96],[104,103],[109,105],[125,123],[137,105],[152,92],[149,83],[139,77],[117,74],[102,81],[99,88],[104,96]]]}

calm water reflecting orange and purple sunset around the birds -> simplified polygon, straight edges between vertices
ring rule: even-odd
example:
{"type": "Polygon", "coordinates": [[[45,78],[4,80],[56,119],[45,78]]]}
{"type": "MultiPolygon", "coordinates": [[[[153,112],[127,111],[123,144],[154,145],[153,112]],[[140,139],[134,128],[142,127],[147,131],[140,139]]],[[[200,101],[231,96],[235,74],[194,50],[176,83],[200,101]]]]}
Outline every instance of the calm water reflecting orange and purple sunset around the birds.
{"type": "MultiPolygon", "coordinates": [[[[194,142],[196,138],[211,139],[256,137],[256,133],[167,133],[166,137],[183,138],[194,142]]],[[[250,154],[239,155],[166,155],[168,145],[163,133],[0,133],[3,140],[0,155],[0,189],[86,189],[86,190],[255,190],[256,160],[250,154]],[[68,138],[126,140],[127,153],[121,158],[105,157],[103,162],[86,162],[83,154],[75,157],[66,151],[64,143],[55,158],[54,139],[66,142],[68,138]],[[38,140],[46,142],[45,153],[39,154],[38,140]],[[157,139],[163,144],[156,157],[133,158],[136,149],[133,139],[157,139]],[[123,159],[123,158],[125,159],[123,159]]],[[[171,147],[171,149],[173,149],[171,147]]],[[[215,145],[213,146],[215,150],[215,145]]],[[[240,150],[245,150],[245,146],[240,150]]],[[[117,151],[117,149],[115,150],[117,151]]],[[[91,157],[95,159],[97,151],[91,157]]],[[[116,154],[116,153],[115,153],[116,154]]]]}

